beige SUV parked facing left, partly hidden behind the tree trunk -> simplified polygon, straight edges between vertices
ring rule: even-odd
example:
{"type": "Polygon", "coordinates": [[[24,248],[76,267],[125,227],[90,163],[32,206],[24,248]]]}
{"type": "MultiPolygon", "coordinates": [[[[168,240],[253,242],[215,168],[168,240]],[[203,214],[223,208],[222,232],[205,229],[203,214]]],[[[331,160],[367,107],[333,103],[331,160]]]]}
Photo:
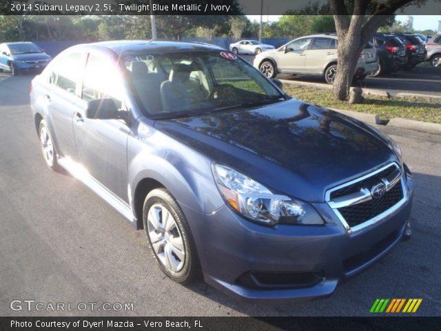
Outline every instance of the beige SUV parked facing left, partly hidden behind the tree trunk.
{"type": "MultiPolygon", "coordinates": [[[[337,36],[314,34],[294,39],[277,50],[258,54],[254,66],[266,77],[276,74],[319,75],[334,83],[337,72],[337,36]]],[[[354,79],[365,79],[378,70],[375,48],[366,46],[360,52],[354,79]]]]}

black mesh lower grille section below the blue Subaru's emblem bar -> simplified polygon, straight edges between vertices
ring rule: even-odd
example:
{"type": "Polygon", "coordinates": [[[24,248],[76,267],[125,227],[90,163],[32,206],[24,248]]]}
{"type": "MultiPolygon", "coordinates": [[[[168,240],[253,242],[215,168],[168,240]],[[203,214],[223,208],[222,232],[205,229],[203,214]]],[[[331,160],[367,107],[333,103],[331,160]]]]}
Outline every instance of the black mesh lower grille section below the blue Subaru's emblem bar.
{"type": "Polygon", "coordinates": [[[354,226],[369,221],[377,215],[385,212],[402,199],[402,188],[398,182],[391,190],[387,191],[380,199],[372,199],[357,205],[349,205],[339,208],[338,212],[345,219],[346,223],[353,228],[354,226]]]}

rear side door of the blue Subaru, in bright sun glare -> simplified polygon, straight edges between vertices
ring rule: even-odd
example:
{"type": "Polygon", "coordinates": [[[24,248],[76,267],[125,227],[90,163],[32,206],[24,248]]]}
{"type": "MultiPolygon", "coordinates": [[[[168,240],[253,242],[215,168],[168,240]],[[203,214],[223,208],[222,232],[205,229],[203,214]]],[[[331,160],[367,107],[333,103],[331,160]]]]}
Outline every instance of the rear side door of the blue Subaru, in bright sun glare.
{"type": "Polygon", "coordinates": [[[60,156],[74,157],[76,149],[72,114],[81,105],[80,83],[85,64],[84,52],[59,57],[51,66],[48,84],[43,86],[39,102],[47,108],[52,134],[60,156]]]}

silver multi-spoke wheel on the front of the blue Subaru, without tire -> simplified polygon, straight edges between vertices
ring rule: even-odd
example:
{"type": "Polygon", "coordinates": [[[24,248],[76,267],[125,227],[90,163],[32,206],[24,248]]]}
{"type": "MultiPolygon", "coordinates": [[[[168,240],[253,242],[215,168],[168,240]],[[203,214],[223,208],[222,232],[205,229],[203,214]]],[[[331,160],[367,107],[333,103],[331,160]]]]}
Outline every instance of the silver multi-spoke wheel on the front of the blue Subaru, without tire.
{"type": "Polygon", "coordinates": [[[147,216],[147,233],[161,264],[170,272],[179,272],[185,263],[185,247],[172,213],[164,205],[154,204],[147,216]]]}

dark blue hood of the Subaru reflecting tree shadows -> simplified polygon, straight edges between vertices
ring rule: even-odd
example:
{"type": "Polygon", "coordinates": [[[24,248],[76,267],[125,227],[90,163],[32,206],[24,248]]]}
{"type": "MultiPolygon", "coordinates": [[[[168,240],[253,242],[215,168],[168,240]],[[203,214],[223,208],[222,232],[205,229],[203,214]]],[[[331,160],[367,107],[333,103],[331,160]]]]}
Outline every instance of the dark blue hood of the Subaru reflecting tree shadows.
{"type": "Polygon", "coordinates": [[[324,201],[335,185],[398,161],[364,123],[296,99],[156,121],[155,127],[275,192],[311,202],[324,201]]]}

